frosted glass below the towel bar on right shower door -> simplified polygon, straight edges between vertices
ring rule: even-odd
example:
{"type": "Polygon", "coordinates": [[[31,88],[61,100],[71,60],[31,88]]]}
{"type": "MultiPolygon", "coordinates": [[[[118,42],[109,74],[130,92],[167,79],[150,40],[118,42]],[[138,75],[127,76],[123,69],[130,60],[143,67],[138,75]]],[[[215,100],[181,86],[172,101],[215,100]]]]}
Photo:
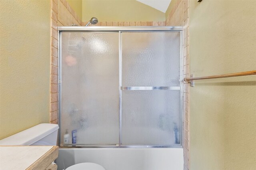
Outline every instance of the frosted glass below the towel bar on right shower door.
{"type": "Polygon", "coordinates": [[[180,144],[180,90],[124,90],[123,145],[180,144]]]}

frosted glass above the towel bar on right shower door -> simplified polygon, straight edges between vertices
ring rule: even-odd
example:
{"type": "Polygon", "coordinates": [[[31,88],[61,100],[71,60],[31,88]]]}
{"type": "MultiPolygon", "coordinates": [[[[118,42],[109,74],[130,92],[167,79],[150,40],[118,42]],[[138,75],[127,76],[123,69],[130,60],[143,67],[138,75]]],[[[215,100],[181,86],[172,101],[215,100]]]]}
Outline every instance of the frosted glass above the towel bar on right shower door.
{"type": "Polygon", "coordinates": [[[122,86],[180,86],[179,32],[123,32],[122,86]]]}

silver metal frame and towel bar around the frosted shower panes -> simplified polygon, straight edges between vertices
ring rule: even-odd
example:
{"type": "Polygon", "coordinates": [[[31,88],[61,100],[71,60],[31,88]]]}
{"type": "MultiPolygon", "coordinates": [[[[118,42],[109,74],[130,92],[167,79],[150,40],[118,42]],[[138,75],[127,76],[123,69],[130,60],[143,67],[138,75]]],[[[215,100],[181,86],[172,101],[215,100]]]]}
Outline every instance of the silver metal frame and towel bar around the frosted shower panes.
{"type": "Polygon", "coordinates": [[[183,27],[181,26],[139,26],[139,27],[112,27],[112,26],[68,26],[58,27],[58,145],[60,148],[182,148],[183,147],[183,27]],[[119,33],[119,143],[118,144],[61,144],[61,32],[117,32],[119,33]],[[180,86],[122,86],[122,32],[180,32],[180,86]],[[122,90],[180,90],[180,145],[124,145],[122,144],[122,90]]]}

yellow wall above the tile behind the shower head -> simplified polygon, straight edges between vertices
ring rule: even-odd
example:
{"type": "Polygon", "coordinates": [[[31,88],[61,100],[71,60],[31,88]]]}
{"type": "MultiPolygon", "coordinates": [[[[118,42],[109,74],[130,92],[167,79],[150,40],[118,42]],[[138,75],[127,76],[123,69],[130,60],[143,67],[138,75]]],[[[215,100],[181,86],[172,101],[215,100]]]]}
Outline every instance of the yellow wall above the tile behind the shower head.
{"type": "Polygon", "coordinates": [[[83,21],[165,21],[165,14],[136,0],[83,0],[83,21]]]}

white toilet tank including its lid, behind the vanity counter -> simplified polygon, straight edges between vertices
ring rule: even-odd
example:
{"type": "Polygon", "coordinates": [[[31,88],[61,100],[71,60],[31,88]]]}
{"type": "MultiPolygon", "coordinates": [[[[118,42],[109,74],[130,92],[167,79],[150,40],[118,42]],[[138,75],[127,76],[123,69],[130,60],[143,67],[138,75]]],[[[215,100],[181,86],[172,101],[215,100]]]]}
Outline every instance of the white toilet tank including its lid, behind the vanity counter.
{"type": "Polygon", "coordinates": [[[56,145],[59,126],[42,123],[0,140],[2,146],[56,145]]]}

